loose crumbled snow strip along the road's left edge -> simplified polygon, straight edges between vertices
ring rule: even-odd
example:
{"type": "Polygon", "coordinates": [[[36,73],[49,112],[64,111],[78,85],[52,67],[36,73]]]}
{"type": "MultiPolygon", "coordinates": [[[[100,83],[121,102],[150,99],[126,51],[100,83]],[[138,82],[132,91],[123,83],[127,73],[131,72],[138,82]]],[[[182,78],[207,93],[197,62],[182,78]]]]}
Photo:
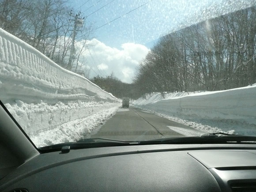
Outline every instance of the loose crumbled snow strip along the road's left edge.
{"type": "Polygon", "coordinates": [[[94,113],[88,117],[69,121],[61,124],[51,130],[43,131],[38,134],[29,134],[28,136],[37,147],[44,147],[47,145],[64,143],[64,142],[75,142],[79,139],[83,139],[95,128],[109,118],[112,117],[119,106],[112,107],[94,113]]]}

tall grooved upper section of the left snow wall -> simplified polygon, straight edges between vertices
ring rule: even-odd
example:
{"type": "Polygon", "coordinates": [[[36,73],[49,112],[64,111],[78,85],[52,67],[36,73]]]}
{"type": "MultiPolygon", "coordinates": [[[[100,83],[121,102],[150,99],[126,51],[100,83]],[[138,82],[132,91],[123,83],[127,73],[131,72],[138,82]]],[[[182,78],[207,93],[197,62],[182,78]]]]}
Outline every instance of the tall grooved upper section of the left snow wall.
{"type": "Polygon", "coordinates": [[[56,103],[74,100],[116,101],[88,79],[70,72],[0,29],[0,99],[11,103],[56,103]]]}

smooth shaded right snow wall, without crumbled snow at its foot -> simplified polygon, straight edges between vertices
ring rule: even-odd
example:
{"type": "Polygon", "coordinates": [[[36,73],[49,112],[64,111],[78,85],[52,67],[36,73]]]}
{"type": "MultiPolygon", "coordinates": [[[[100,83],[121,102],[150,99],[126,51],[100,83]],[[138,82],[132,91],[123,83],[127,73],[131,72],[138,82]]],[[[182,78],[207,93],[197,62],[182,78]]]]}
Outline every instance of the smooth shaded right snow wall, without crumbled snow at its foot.
{"type": "Polygon", "coordinates": [[[133,105],[157,113],[199,117],[211,120],[232,120],[256,125],[256,85],[222,91],[173,93],[139,98],[133,105]]]}

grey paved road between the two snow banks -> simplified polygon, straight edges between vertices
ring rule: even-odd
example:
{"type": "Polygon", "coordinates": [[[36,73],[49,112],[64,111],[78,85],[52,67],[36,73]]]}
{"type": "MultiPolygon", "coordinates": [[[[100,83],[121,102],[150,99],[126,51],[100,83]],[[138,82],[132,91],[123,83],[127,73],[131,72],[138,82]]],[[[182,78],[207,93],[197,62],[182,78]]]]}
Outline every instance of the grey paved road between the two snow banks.
{"type": "MultiPolygon", "coordinates": [[[[105,124],[92,132],[89,137],[119,140],[149,140],[184,136],[167,126],[179,130],[193,130],[172,120],[154,115],[135,107],[120,108],[105,124]]],[[[175,129],[174,129],[175,130],[175,129]]]]}

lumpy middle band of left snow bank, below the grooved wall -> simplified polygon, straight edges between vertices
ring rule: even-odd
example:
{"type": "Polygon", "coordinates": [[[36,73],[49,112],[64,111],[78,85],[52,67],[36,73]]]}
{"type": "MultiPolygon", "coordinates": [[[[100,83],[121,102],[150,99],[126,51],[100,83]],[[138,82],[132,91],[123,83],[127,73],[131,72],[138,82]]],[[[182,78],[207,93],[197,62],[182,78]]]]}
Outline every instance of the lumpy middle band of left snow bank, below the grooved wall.
{"type": "Polygon", "coordinates": [[[114,102],[57,102],[49,105],[41,102],[27,104],[16,100],[13,105],[5,104],[8,111],[27,133],[38,133],[56,128],[68,121],[85,118],[105,109],[120,106],[114,102]]]}

